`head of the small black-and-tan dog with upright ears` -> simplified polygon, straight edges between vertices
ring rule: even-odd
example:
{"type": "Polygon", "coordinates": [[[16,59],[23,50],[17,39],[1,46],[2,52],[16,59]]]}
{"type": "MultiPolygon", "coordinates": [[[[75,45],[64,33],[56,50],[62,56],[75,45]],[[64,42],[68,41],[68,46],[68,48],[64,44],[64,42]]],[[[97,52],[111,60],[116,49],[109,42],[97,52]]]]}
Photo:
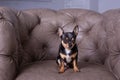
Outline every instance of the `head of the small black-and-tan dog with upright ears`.
{"type": "Polygon", "coordinates": [[[76,25],[72,32],[64,32],[63,28],[58,30],[59,36],[61,37],[62,45],[65,49],[71,49],[74,47],[76,42],[76,37],[79,32],[78,25],[76,25]]]}

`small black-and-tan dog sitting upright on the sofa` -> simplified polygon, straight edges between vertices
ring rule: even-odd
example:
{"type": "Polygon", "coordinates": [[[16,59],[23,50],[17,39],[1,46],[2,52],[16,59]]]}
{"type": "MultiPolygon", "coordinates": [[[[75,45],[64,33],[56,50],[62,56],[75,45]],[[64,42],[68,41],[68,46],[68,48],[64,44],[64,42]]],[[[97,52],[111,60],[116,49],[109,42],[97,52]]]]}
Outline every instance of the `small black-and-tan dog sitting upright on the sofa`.
{"type": "Polygon", "coordinates": [[[76,45],[78,32],[78,25],[75,26],[72,32],[64,32],[61,27],[58,30],[61,38],[59,53],[56,60],[60,68],[59,73],[63,73],[65,71],[65,67],[73,68],[74,72],[79,72],[77,65],[78,48],[76,45]]]}

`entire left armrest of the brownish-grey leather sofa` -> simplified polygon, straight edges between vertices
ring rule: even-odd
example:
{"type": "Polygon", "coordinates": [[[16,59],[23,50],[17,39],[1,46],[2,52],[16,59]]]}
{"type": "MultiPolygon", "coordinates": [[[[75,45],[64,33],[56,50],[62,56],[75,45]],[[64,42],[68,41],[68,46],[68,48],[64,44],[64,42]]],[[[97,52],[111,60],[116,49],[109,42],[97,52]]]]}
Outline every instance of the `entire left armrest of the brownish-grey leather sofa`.
{"type": "Polygon", "coordinates": [[[17,54],[18,41],[12,19],[14,19],[13,13],[0,8],[0,80],[14,80],[16,76],[14,56],[17,54]]]}

